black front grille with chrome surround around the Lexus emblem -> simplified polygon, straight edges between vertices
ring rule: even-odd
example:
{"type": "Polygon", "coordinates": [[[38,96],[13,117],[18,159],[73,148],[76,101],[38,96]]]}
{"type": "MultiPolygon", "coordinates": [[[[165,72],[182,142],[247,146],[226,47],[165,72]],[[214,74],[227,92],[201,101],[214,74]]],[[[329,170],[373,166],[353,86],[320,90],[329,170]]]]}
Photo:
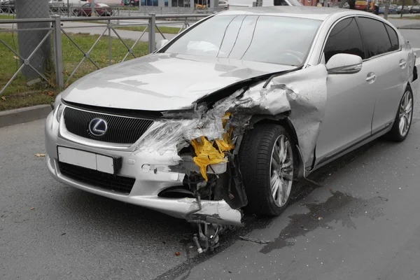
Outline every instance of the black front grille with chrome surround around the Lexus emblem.
{"type": "Polygon", "coordinates": [[[80,137],[116,144],[134,144],[153,124],[153,120],[107,115],[66,107],[64,109],[66,129],[80,137]],[[89,123],[94,118],[102,118],[108,123],[108,129],[102,137],[94,136],[89,131],[89,123]]]}

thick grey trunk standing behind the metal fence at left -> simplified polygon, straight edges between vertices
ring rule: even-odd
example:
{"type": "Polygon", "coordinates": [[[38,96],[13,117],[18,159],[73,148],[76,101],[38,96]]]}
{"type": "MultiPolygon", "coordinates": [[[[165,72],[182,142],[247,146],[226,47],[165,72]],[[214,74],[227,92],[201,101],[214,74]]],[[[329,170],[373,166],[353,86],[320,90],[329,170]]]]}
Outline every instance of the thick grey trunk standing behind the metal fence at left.
{"type": "MultiPolygon", "coordinates": [[[[16,0],[15,5],[18,19],[50,18],[49,4],[47,0],[16,0]]],[[[51,24],[49,22],[20,22],[18,23],[18,29],[48,28],[50,25],[51,24]]],[[[41,43],[46,34],[48,34],[48,30],[18,30],[20,55],[22,55],[24,59],[27,59],[39,43],[41,43]]],[[[50,70],[50,62],[51,38],[49,36],[41,45],[41,48],[38,48],[31,59],[29,59],[29,64],[34,66],[34,68],[40,73],[45,73],[50,70]]],[[[28,65],[22,69],[22,75],[27,78],[34,78],[38,76],[36,71],[31,69],[28,65]]]]}

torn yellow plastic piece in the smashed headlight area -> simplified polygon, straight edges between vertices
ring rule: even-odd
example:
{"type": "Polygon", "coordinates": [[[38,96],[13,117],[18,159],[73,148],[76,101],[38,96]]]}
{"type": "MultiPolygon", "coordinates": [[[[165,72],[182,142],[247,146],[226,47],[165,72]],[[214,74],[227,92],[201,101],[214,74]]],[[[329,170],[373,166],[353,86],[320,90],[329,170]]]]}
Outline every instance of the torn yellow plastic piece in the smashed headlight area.
{"type": "MultiPolygon", "coordinates": [[[[226,113],[223,117],[223,127],[225,127],[230,117],[230,113],[226,113]]],[[[202,136],[191,141],[191,145],[194,147],[195,155],[194,162],[200,167],[200,172],[204,180],[209,181],[207,178],[207,166],[216,165],[221,162],[227,162],[225,160],[226,151],[230,151],[235,148],[232,143],[232,131],[233,127],[230,128],[229,132],[223,134],[223,139],[216,139],[216,146],[214,147],[215,141],[209,141],[206,137],[202,136]]]]}

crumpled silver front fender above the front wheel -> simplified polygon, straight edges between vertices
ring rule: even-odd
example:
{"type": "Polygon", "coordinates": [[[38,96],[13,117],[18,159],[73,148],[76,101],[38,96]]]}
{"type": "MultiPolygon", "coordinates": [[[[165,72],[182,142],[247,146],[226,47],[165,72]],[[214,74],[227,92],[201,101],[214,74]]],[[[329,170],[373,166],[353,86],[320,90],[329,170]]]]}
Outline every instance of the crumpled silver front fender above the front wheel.
{"type": "MultiPolygon", "coordinates": [[[[265,82],[260,82],[241,88],[216,102],[207,112],[200,104],[194,106],[193,111],[167,113],[166,118],[180,119],[156,121],[142,137],[138,150],[158,151],[160,154],[178,152],[191,141],[199,143],[195,139],[202,137],[208,141],[226,142],[228,130],[231,130],[230,139],[235,141],[244,134],[253,116],[286,116],[290,113],[288,118],[295,127],[304,162],[308,163],[324,116],[326,76],[324,66],[313,66],[299,73],[276,76],[266,86],[265,82]],[[225,118],[226,113],[230,113],[230,118],[225,118]]],[[[220,155],[219,158],[223,161],[224,157],[220,155]]],[[[205,167],[202,167],[202,174],[204,171],[205,167]]]]}

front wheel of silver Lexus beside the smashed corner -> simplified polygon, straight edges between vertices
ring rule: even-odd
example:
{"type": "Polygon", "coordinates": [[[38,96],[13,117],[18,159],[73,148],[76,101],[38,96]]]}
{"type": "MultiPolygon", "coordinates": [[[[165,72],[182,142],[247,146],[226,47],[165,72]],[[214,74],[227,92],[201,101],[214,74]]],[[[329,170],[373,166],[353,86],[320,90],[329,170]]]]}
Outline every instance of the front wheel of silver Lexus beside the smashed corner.
{"type": "MultiPolygon", "coordinates": [[[[281,153],[280,153],[281,154],[281,153]]],[[[239,169],[243,176],[248,205],[244,210],[264,216],[278,216],[286,209],[293,192],[294,180],[297,176],[297,151],[287,130],[281,125],[263,123],[255,125],[253,130],[249,130],[241,141],[239,148],[239,169]],[[280,162],[283,169],[275,168],[272,162],[274,144],[283,141],[286,154],[280,162]],[[291,145],[290,145],[291,144],[291,145]],[[277,172],[277,173],[276,173],[277,172]],[[282,174],[282,175],[280,175],[282,174]],[[277,176],[277,177],[276,177],[277,176]],[[283,179],[280,179],[280,178],[283,179]],[[272,192],[272,179],[276,180],[273,186],[277,186],[277,191],[272,192]],[[284,186],[284,188],[282,187],[284,186]],[[283,190],[283,197],[279,200],[280,190],[283,190]]],[[[275,187],[274,187],[275,188],[275,187]]]]}

